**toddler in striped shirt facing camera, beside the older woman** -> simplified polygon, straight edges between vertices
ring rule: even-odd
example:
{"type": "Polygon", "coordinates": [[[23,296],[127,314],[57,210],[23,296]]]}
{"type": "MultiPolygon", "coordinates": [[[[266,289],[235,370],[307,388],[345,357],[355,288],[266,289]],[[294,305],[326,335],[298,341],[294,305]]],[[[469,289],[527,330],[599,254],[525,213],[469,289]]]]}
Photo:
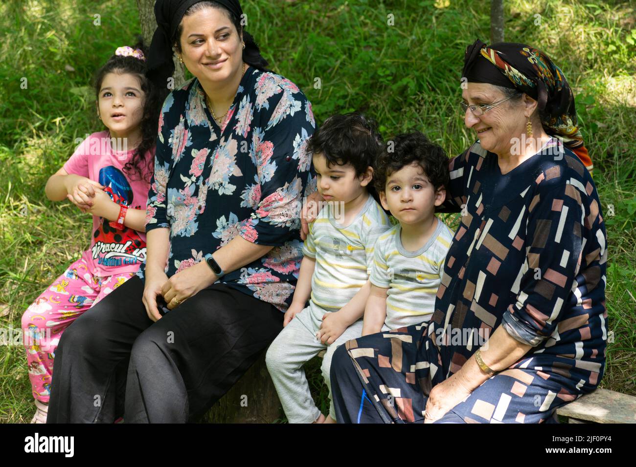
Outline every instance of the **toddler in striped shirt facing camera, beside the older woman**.
{"type": "Polygon", "coordinates": [[[385,209],[399,222],[375,245],[363,335],[429,321],[453,233],[435,215],[446,197],[448,158],[422,133],[387,142],[374,171],[385,209]]]}

